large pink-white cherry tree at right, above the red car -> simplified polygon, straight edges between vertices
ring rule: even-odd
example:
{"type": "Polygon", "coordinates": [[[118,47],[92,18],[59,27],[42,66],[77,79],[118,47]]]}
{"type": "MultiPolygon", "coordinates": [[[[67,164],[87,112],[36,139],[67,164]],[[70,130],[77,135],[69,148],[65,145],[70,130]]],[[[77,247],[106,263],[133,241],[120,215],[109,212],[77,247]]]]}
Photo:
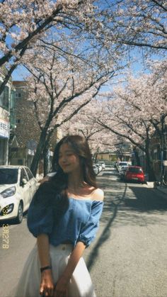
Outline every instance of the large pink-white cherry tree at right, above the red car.
{"type": "Polygon", "coordinates": [[[113,94],[106,94],[108,100],[102,103],[101,118],[94,116],[94,121],[103,128],[129,140],[146,154],[150,180],[156,180],[151,138],[155,132],[163,137],[167,117],[165,64],[165,61],[157,62],[150,74],[141,74],[138,78],[129,76],[127,85],[117,86],[113,94]]]}

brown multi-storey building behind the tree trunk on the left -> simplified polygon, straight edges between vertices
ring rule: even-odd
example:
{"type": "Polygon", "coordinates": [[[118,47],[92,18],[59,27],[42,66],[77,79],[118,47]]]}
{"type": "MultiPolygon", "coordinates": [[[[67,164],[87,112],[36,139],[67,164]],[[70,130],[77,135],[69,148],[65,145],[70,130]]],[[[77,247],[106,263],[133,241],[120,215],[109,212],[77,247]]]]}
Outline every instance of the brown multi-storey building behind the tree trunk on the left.
{"type": "MultiPolygon", "coordinates": [[[[40,139],[40,127],[35,116],[35,107],[33,101],[28,99],[28,85],[25,81],[13,81],[16,89],[15,112],[16,112],[16,140],[18,146],[11,147],[10,163],[23,164],[30,167],[35,150],[40,139]]],[[[57,141],[57,131],[52,136],[52,142],[48,156],[50,165],[52,161],[53,148],[57,141]]],[[[16,144],[16,142],[15,142],[16,144]]],[[[43,159],[40,159],[38,173],[43,170],[43,159]]]]}

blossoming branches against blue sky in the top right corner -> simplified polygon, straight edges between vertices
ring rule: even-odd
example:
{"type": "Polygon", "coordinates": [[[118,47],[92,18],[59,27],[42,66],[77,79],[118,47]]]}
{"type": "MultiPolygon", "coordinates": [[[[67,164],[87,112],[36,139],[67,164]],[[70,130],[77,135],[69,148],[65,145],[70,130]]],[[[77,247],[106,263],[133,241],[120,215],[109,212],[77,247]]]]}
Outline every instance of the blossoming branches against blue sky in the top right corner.
{"type": "Polygon", "coordinates": [[[115,43],[156,54],[167,50],[166,0],[110,1],[110,9],[108,30],[115,43]]]}

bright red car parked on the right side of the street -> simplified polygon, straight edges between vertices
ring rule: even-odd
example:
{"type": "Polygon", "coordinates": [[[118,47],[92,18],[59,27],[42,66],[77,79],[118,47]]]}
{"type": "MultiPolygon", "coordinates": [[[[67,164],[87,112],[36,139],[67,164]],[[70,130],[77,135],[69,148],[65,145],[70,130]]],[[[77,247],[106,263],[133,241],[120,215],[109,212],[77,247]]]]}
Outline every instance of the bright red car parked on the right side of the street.
{"type": "Polygon", "coordinates": [[[125,181],[138,181],[144,184],[145,177],[142,167],[129,166],[127,172],[125,173],[125,181]]]}

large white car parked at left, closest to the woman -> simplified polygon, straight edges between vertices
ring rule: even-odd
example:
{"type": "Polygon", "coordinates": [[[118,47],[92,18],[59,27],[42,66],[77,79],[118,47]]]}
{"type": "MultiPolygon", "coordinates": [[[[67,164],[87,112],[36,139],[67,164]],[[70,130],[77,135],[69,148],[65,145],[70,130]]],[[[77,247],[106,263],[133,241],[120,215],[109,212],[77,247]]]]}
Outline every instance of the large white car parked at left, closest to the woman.
{"type": "Polygon", "coordinates": [[[28,167],[0,166],[0,221],[21,223],[38,186],[28,167]]]}

